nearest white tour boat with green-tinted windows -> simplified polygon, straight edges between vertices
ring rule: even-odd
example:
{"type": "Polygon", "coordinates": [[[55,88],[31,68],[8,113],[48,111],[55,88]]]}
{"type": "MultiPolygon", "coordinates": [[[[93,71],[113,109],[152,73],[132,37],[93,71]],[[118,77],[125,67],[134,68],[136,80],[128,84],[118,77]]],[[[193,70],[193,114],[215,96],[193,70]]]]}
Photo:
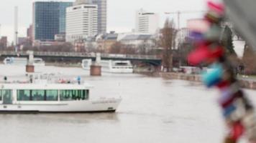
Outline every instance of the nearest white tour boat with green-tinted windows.
{"type": "Polygon", "coordinates": [[[89,84],[0,84],[0,112],[115,112],[121,98],[91,99],[89,84]]]}

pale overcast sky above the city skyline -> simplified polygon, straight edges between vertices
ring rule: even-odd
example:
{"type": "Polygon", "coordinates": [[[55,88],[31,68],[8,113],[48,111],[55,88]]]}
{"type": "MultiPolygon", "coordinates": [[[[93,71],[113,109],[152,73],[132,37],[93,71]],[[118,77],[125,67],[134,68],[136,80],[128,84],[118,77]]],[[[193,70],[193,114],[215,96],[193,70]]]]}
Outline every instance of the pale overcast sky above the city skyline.
{"type": "MultiPolygon", "coordinates": [[[[32,3],[35,0],[1,0],[0,24],[1,36],[14,37],[14,6],[19,6],[19,36],[26,36],[27,27],[32,24],[32,3]]],[[[45,1],[45,0],[43,0],[45,1]]],[[[58,0],[60,1],[60,0],[58,0]]],[[[75,0],[63,0],[75,1],[75,0]]],[[[201,11],[206,0],[108,0],[107,30],[126,32],[134,29],[135,12],[139,9],[160,14],[160,26],[167,17],[177,21],[176,15],[165,15],[173,11],[201,11]]],[[[186,26],[187,19],[199,18],[201,14],[182,14],[181,26],[186,26]]]]}

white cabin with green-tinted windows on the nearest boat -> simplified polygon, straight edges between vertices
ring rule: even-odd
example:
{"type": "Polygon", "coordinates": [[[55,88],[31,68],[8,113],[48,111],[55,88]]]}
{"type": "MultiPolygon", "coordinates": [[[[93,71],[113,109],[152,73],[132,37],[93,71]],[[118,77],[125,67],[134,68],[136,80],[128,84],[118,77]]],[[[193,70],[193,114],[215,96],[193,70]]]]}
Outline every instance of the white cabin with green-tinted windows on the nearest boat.
{"type": "Polygon", "coordinates": [[[89,88],[77,84],[1,84],[0,104],[85,101],[89,88]]]}

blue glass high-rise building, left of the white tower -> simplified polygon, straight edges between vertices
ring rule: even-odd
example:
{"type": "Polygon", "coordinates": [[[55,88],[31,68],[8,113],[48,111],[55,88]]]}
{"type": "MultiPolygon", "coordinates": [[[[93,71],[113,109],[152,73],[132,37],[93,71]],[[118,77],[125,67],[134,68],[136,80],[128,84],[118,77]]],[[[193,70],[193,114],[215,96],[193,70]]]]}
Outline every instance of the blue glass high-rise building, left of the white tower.
{"type": "Polygon", "coordinates": [[[33,38],[53,41],[55,34],[65,33],[65,13],[72,2],[36,1],[33,4],[33,38]]]}

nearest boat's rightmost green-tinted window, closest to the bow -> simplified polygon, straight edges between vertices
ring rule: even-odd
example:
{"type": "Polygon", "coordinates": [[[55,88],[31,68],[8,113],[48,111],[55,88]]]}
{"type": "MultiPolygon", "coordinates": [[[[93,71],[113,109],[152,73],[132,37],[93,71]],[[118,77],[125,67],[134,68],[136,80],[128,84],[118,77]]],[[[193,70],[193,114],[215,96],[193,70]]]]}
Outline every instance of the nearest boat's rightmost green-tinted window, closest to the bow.
{"type": "Polygon", "coordinates": [[[60,90],[61,101],[86,99],[88,99],[88,90],[60,90]]]}

